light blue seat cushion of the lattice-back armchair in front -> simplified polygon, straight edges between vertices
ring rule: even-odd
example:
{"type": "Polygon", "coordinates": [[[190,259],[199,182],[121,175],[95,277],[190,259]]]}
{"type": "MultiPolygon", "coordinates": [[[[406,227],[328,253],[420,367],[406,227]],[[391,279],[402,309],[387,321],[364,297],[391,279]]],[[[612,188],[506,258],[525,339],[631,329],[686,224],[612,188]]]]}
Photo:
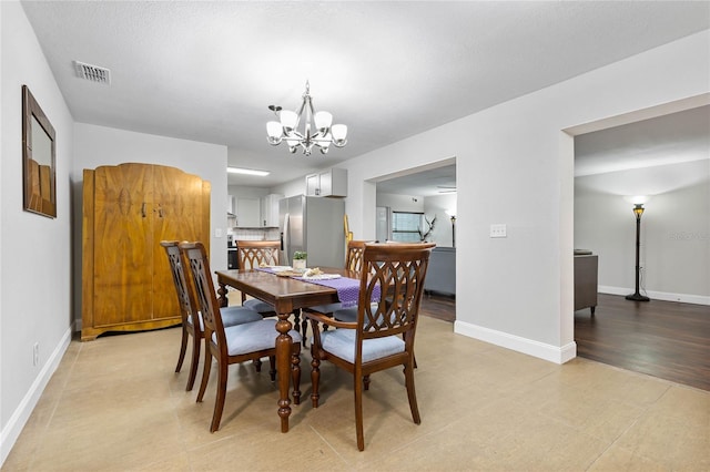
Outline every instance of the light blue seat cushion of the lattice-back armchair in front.
{"type": "MultiPolygon", "coordinates": [[[[355,362],[355,330],[333,329],[321,332],[323,349],[348,362],[355,362]]],[[[404,341],[396,336],[365,339],[363,341],[363,362],[404,352],[404,341]]]]}

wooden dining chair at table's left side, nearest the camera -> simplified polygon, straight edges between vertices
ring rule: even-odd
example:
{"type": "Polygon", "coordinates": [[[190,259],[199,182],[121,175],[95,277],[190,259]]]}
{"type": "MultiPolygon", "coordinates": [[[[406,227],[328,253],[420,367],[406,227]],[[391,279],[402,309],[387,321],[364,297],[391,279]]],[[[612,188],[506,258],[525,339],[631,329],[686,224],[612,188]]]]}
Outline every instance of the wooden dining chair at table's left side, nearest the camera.
{"type": "MultiPolygon", "coordinates": [[[[210,431],[215,432],[220,429],[222,420],[226,398],[227,371],[231,365],[246,360],[255,361],[267,357],[271,361],[270,373],[272,381],[276,380],[276,373],[285,376],[288,372],[276,372],[275,370],[275,346],[276,337],[278,336],[276,320],[262,318],[258,321],[225,327],[219,308],[220,304],[214,289],[214,280],[211,276],[210,260],[204,246],[197,242],[180,243],[179,247],[190,268],[195,298],[204,320],[204,368],[200,391],[197,392],[197,402],[202,401],[207,389],[212,360],[216,359],[217,362],[216,399],[210,425],[210,431]]],[[[295,330],[291,330],[288,335],[293,338],[291,350],[293,397],[294,403],[298,404],[301,402],[301,335],[295,330]]]]}

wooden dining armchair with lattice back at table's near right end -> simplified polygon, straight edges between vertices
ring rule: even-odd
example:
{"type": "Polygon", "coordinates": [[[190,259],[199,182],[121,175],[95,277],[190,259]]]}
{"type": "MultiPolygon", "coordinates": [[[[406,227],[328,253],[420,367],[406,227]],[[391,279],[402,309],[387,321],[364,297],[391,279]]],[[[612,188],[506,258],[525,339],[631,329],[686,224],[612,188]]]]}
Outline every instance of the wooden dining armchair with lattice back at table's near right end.
{"type": "Polygon", "coordinates": [[[365,449],[363,388],[372,373],[404,366],[409,410],[420,423],[414,388],[414,338],[429,254],[435,244],[366,244],[361,270],[357,320],[338,321],[306,312],[313,324],[311,380],[313,407],[318,407],[321,361],[328,360],[353,374],[357,449],[365,449]],[[373,300],[373,295],[379,294],[373,300]],[[317,324],[338,329],[320,331],[317,324]]]}

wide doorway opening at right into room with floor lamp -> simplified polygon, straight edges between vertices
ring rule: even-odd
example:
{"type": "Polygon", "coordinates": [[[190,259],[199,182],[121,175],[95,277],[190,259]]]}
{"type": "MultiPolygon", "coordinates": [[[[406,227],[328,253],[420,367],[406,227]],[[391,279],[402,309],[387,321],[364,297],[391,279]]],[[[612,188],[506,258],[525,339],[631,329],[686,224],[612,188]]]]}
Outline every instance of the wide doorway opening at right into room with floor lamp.
{"type": "Polygon", "coordinates": [[[594,316],[589,307],[575,304],[578,355],[704,389],[710,384],[703,387],[704,376],[693,377],[691,366],[710,357],[710,320],[699,316],[710,305],[710,243],[692,235],[710,226],[708,102],[703,95],[584,131],[566,130],[575,136],[575,248],[598,256],[594,316]],[[638,195],[651,197],[645,204],[637,269],[650,302],[625,299],[635,286],[636,222],[629,197],[638,195]],[[686,324],[694,328],[689,331],[686,324]]]}

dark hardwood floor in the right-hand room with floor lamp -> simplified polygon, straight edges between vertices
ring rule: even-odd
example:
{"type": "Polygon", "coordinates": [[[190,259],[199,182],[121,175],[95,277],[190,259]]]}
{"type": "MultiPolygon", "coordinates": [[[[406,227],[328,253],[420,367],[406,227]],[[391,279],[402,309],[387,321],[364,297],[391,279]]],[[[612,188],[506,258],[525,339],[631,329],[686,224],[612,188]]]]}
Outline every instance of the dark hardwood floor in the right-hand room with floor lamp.
{"type": "Polygon", "coordinates": [[[710,391],[710,307],[599,294],[575,312],[577,355],[710,391]]]}

